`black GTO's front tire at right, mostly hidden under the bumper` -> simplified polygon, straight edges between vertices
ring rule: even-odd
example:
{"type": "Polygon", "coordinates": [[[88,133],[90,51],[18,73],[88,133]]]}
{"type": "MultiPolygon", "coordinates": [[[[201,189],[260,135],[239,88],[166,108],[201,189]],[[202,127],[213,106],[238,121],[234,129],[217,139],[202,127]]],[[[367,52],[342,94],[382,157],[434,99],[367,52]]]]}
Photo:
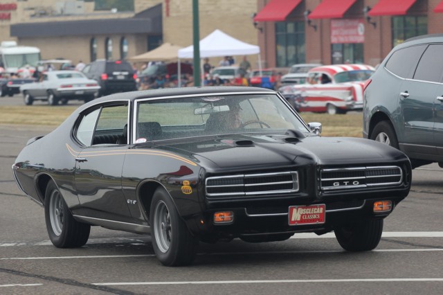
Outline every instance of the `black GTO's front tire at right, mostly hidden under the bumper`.
{"type": "Polygon", "coordinates": [[[346,251],[370,251],[377,247],[383,232],[382,219],[365,219],[344,224],[334,233],[338,244],[346,251]]]}

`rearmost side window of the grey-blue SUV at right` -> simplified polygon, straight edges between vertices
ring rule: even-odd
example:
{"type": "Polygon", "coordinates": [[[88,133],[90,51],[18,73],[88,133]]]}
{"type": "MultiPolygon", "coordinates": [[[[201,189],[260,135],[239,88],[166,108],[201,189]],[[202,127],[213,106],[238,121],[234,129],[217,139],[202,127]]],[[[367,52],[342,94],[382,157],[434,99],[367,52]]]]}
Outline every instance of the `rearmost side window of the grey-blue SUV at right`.
{"type": "Polygon", "coordinates": [[[411,77],[411,69],[417,65],[426,45],[410,46],[395,51],[386,63],[386,69],[402,78],[411,77]]]}

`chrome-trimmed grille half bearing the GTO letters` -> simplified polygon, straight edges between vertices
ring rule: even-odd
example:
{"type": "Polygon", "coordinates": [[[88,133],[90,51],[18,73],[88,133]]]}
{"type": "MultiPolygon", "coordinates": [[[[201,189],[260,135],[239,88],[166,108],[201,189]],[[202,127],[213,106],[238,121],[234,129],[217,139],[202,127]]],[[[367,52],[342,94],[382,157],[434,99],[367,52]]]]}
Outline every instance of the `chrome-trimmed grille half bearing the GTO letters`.
{"type": "Polygon", "coordinates": [[[320,181],[322,190],[395,186],[403,181],[403,172],[398,166],[322,169],[320,181]]]}

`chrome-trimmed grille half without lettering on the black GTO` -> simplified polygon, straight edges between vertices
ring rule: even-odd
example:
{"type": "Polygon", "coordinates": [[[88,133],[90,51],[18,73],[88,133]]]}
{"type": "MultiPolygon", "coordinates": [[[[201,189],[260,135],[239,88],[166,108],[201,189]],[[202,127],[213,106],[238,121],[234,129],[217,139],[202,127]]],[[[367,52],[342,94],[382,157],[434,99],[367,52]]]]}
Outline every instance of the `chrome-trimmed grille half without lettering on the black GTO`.
{"type": "Polygon", "coordinates": [[[295,171],[208,177],[208,197],[287,194],[298,191],[295,171]]]}

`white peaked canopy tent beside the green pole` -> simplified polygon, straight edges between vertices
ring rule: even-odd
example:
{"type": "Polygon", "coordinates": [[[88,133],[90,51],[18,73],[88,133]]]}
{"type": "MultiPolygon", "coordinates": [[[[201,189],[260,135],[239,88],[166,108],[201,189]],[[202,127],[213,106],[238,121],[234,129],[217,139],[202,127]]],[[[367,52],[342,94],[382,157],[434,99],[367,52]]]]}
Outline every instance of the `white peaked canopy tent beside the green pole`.
{"type": "MultiPolygon", "coordinates": [[[[260,47],[257,45],[242,42],[221,30],[215,30],[199,42],[200,57],[231,56],[231,55],[252,55],[258,54],[258,66],[262,70],[262,60],[260,59],[260,47]]],[[[193,58],[194,46],[179,49],[179,60],[181,58],[193,58]]],[[[179,63],[180,64],[180,63],[179,63]]],[[[180,79],[179,68],[179,79],[180,79]]],[[[180,81],[179,81],[180,82],[180,81]]]]}

